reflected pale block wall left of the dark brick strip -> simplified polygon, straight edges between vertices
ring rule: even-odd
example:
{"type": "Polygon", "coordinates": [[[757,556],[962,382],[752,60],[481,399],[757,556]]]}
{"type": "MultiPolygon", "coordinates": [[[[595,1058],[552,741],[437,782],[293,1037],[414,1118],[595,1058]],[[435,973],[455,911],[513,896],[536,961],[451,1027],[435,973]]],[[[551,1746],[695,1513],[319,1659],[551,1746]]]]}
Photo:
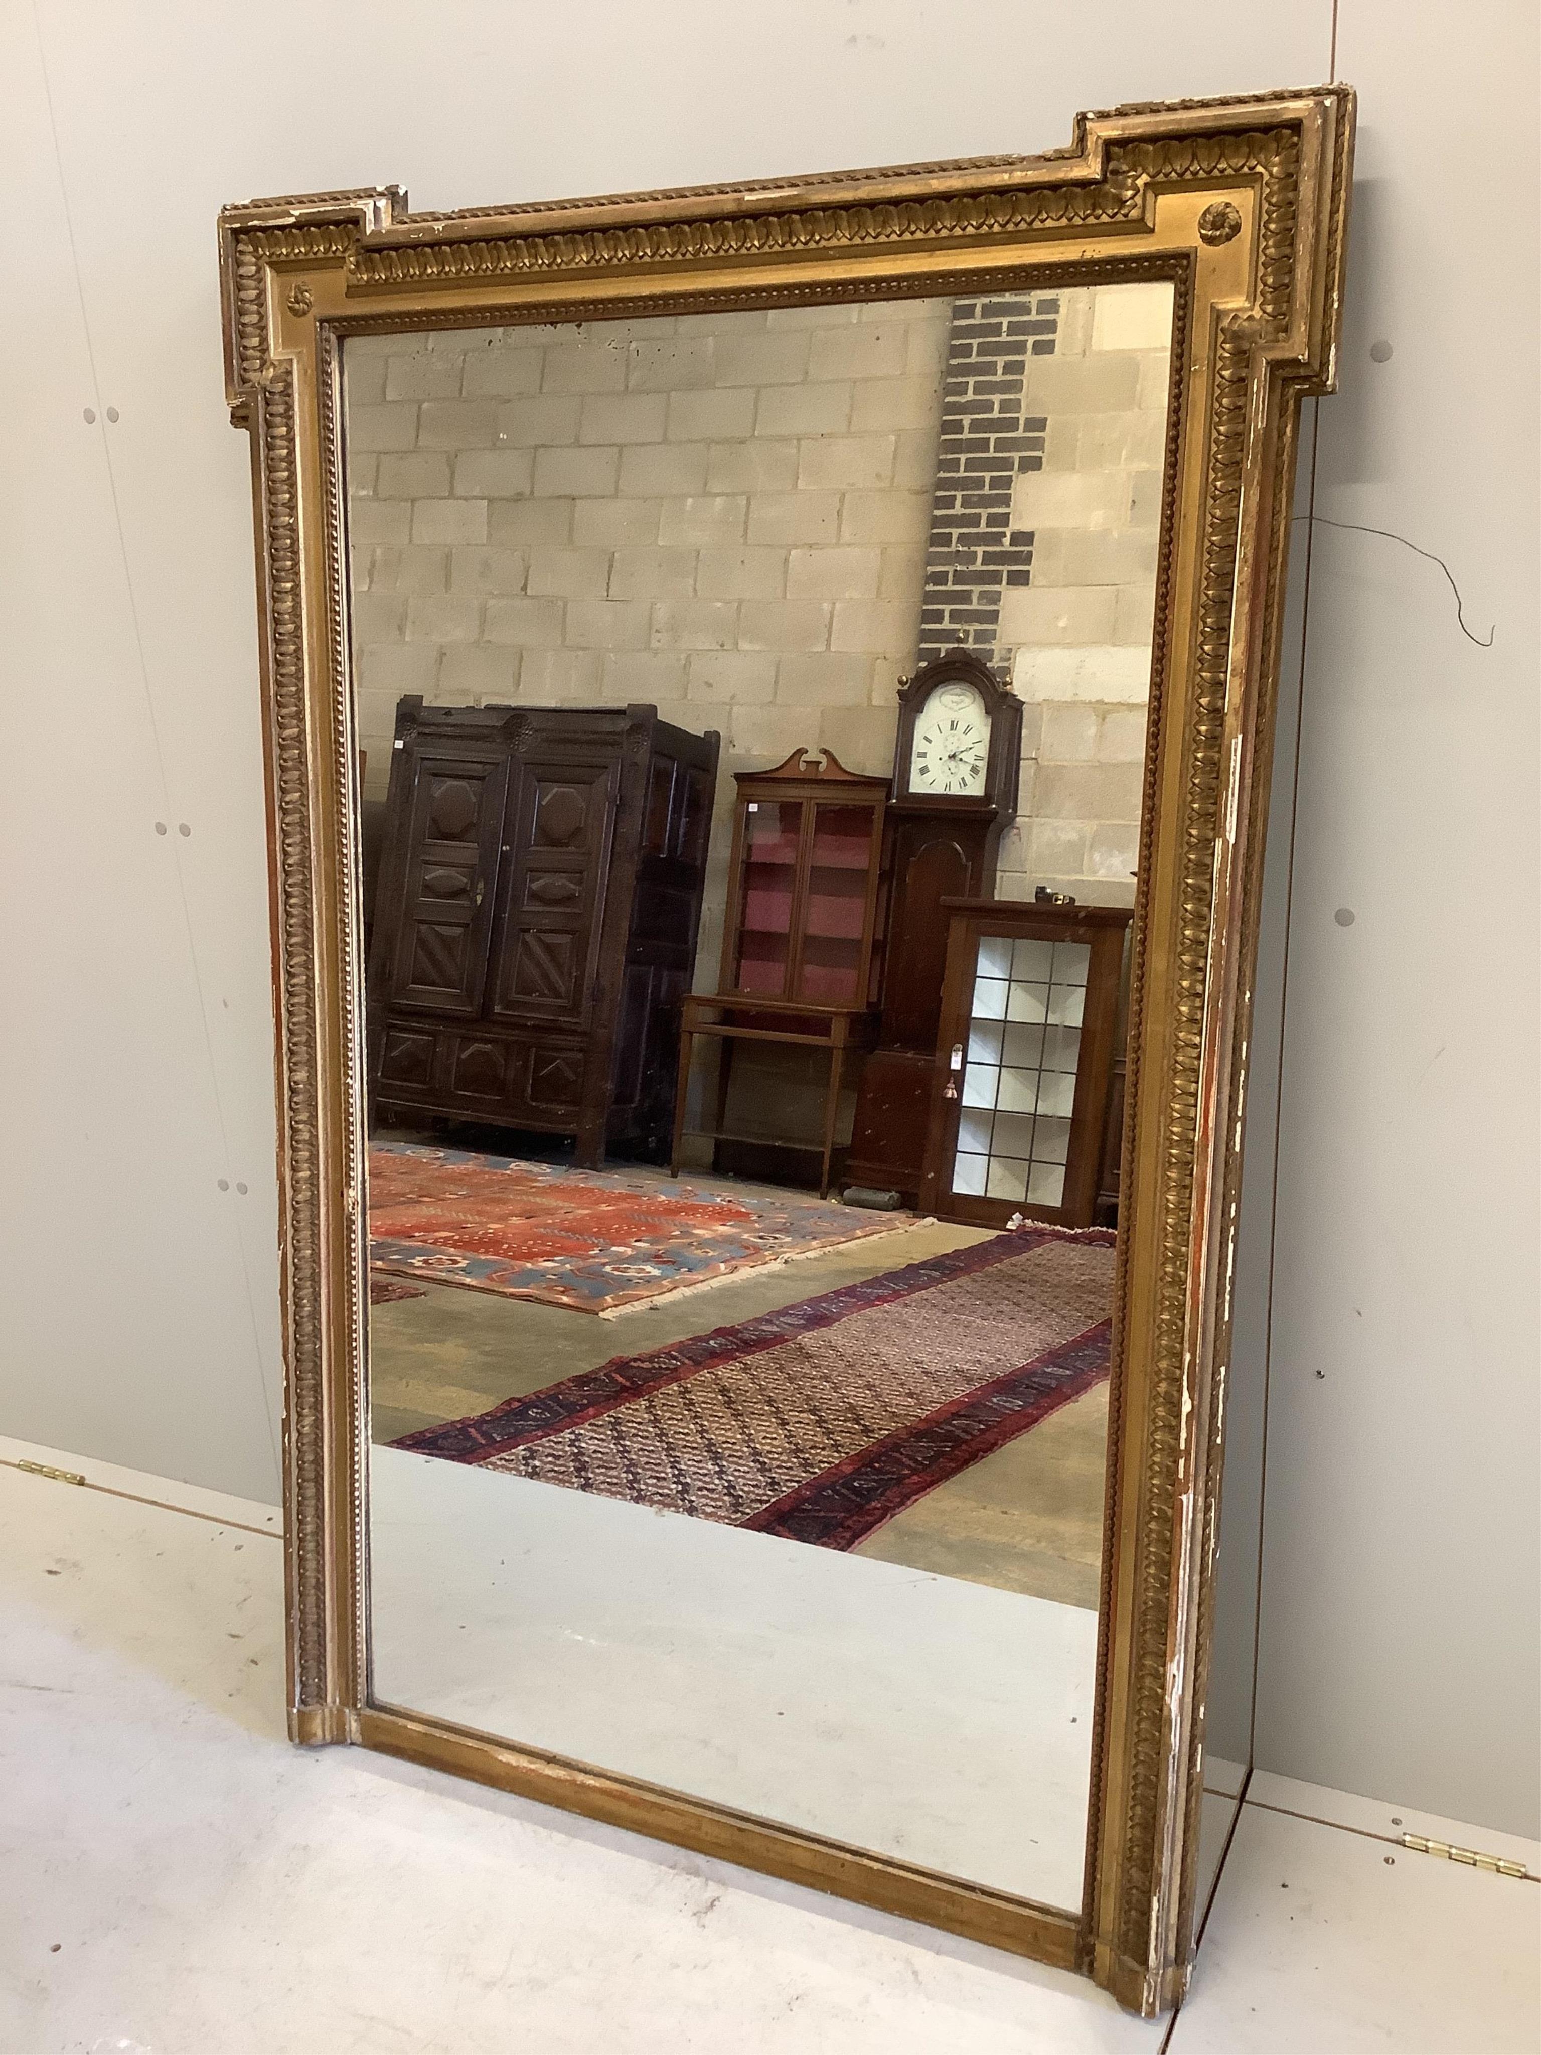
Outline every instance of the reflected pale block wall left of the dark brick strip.
{"type": "Polygon", "coordinates": [[[945,300],[355,337],[345,347],[360,744],[397,699],[653,703],[734,771],[894,758],[914,668],[945,300]]]}

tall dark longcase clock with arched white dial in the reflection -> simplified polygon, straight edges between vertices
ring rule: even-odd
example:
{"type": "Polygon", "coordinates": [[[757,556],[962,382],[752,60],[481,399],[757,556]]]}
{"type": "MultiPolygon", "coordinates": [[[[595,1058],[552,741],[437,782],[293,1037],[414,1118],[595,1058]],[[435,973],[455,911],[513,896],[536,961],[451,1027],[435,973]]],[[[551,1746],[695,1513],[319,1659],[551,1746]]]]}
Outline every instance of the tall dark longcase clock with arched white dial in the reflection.
{"type": "Polygon", "coordinates": [[[947,968],[943,898],[988,898],[1017,814],[1021,701],[951,649],[898,693],[890,880],[877,1046],[857,1095],[847,1186],[918,1198],[947,968]]]}

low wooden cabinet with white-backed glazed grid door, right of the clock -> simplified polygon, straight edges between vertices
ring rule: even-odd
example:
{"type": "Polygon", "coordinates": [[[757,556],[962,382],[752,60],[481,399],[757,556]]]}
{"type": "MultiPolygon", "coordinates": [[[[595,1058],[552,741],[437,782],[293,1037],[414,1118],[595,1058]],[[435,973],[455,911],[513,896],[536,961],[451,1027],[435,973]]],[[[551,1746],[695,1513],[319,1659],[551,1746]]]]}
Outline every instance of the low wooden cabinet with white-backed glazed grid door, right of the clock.
{"type": "Polygon", "coordinates": [[[1091,1227],[1114,1085],[1124,906],[943,900],[947,974],[920,1206],[1091,1227]]]}

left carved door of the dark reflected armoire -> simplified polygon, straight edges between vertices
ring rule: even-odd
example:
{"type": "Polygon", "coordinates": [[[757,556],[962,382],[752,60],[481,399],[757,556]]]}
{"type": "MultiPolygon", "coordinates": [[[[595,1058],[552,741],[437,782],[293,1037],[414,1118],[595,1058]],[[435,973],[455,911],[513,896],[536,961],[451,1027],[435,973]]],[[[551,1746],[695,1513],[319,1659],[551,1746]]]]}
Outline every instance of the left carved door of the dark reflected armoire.
{"type": "Polygon", "coordinates": [[[423,750],[413,793],[394,1005],[475,1017],[487,984],[508,760],[423,750]]]}

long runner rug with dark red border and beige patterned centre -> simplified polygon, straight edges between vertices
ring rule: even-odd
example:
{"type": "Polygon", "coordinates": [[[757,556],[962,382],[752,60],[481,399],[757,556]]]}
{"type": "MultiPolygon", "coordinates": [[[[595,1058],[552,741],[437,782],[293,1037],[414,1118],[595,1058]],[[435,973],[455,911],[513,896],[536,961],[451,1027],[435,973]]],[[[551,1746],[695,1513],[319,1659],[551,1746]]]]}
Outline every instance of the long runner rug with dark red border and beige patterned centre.
{"type": "Polygon", "coordinates": [[[1107,1375],[1114,1241],[992,1235],[392,1447],[849,1549],[1107,1375]]]}

